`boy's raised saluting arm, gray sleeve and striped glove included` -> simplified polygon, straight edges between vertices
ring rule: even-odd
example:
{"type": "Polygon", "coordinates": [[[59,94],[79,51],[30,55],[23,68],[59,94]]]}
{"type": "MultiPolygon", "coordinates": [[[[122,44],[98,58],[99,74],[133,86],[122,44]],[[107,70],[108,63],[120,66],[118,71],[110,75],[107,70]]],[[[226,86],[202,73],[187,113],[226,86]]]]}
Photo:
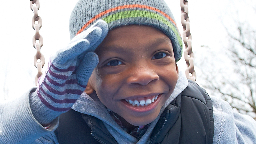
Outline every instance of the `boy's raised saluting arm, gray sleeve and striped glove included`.
{"type": "Polygon", "coordinates": [[[0,144],[42,143],[40,137],[46,134],[44,139],[51,139],[49,134],[57,128],[58,116],[71,109],[84,91],[98,63],[93,51],[107,35],[107,27],[99,20],[76,35],[66,48],[50,57],[38,88],[0,105],[0,144]]]}

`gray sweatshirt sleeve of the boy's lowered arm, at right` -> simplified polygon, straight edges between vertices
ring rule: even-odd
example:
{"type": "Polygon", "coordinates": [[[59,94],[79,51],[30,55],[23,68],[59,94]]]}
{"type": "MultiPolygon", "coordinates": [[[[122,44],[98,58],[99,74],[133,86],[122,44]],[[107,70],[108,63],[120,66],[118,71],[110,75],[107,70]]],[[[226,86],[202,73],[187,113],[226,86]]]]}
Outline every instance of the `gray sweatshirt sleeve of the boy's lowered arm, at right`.
{"type": "Polygon", "coordinates": [[[213,144],[256,144],[256,121],[234,112],[224,100],[211,96],[213,103],[213,144]]]}

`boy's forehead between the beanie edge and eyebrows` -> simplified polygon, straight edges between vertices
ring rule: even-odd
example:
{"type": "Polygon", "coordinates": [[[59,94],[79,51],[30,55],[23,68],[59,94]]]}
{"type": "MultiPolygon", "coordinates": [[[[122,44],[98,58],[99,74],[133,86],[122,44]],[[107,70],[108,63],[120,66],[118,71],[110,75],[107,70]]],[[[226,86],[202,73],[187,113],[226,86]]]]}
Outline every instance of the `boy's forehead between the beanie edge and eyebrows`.
{"type": "Polygon", "coordinates": [[[162,31],[144,25],[128,25],[112,29],[96,52],[103,52],[109,48],[141,48],[171,45],[171,40],[162,31]]]}

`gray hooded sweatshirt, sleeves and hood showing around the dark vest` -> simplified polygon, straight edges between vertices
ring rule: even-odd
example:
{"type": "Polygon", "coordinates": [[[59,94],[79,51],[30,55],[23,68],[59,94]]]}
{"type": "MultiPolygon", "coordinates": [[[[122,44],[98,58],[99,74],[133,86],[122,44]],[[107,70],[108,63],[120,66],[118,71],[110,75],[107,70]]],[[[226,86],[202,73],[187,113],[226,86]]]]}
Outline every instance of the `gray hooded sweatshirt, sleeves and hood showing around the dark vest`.
{"type": "MultiPolygon", "coordinates": [[[[180,71],[174,92],[139,141],[111,118],[96,93],[90,96],[82,93],[72,109],[102,120],[119,144],[147,144],[163,110],[187,85],[188,81],[180,71]]],[[[50,123],[48,129],[41,126],[33,117],[29,105],[29,95],[33,91],[35,89],[17,99],[0,103],[0,144],[58,144],[54,130],[58,127],[59,117],[50,123]]],[[[250,116],[232,111],[231,106],[220,98],[211,96],[211,99],[214,117],[213,144],[256,144],[256,121],[250,116]]]]}

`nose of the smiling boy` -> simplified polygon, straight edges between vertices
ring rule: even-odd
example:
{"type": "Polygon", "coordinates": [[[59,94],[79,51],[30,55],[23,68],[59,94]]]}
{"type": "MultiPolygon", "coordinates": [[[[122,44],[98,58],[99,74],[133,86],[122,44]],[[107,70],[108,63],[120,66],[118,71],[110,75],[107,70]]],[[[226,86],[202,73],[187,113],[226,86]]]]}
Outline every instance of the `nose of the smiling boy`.
{"type": "Polygon", "coordinates": [[[159,80],[158,74],[148,66],[134,67],[130,69],[131,75],[127,79],[128,84],[148,85],[150,82],[159,80]]]}

